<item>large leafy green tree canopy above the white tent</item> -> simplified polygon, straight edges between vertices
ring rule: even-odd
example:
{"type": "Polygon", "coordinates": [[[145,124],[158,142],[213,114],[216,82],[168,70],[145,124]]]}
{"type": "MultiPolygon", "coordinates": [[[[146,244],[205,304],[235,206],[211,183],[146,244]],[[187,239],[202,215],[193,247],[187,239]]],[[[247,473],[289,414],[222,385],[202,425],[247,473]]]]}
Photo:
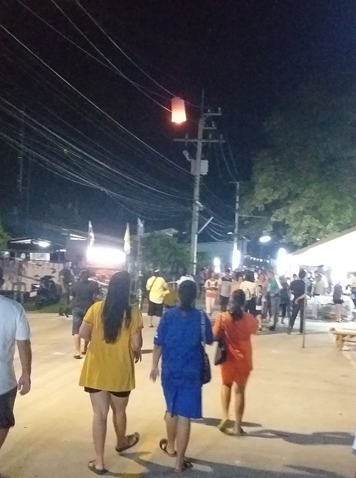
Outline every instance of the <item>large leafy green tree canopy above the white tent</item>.
{"type": "Polygon", "coordinates": [[[356,92],[335,91],[304,88],[274,112],[254,158],[249,208],[296,246],[356,225],[356,92]]]}

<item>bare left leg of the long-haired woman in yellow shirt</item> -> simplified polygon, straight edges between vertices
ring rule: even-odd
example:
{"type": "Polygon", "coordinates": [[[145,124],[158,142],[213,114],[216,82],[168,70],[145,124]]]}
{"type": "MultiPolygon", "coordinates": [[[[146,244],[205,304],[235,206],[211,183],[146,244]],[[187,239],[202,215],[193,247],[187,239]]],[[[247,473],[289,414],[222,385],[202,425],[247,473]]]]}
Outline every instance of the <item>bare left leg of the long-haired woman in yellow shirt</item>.
{"type": "Polygon", "coordinates": [[[106,438],[106,425],[110,406],[110,393],[101,391],[90,393],[90,400],[93,407],[93,441],[95,448],[95,468],[102,470],[104,465],[104,448],[106,438]]]}

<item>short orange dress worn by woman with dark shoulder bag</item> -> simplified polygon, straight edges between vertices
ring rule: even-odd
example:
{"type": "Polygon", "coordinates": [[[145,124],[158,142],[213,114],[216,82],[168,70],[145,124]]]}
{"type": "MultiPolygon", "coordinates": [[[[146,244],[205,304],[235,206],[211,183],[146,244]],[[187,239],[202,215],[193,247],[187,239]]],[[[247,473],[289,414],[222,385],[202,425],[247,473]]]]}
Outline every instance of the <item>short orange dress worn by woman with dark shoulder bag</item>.
{"type": "Polygon", "coordinates": [[[227,349],[226,360],[220,365],[223,385],[246,384],[253,368],[251,335],[256,331],[257,323],[252,314],[244,312],[242,319],[237,321],[229,312],[219,314],[213,333],[224,339],[227,349]]]}

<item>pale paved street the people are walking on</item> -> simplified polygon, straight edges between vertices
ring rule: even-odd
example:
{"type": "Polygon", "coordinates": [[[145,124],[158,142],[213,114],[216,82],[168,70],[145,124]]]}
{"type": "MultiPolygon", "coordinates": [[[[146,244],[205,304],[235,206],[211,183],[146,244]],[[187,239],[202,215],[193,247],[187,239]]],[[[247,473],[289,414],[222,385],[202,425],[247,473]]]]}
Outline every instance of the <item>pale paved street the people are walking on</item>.
{"type": "MultiPolygon", "coordinates": [[[[31,320],[33,389],[18,397],[16,427],[0,453],[0,474],[9,478],[86,478],[93,458],[91,407],[77,386],[82,361],[72,359],[71,322],[31,320]]],[[[204,422],[194,423],[188,476],[297,478],[352,477],[356,430],[355,352],[336,350],[330,324],[313,322],[307,349],[301,337],[254,338],[255,370],[247,392],[245,438],[222,435],[220,376],[204,386],[204,422]]],[[[139,431],[139,445],[119,457],[113,429],[107,438],[109,476],[172,476],[170,459],[158,447],[165,434],[164,399],[159,383],[149,381],[154,331],[144,329],[144,356],[137,366],[137,388],[128,408],[128,431],[139,431]]],[[[210,349],[211,355],[213,348],[210,349]]],[[[16,361],[17,362],[17,361],[16,361]]],[[[18,365],[18,362],[17,362],[18,365]]]]}

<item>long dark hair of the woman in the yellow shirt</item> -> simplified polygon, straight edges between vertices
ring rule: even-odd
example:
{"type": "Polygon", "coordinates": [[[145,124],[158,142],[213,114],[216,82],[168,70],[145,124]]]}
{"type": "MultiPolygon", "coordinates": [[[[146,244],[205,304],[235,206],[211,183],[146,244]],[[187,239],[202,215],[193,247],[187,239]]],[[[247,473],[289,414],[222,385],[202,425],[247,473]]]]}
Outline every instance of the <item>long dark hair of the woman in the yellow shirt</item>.
{"type": "Polygon", "coordinates": [[[124,322],[126,327],[131,322],[130,285],[130,274],[126,270],[116,272],[110,279],[101,314],[107,344],[116,342],[124,322]]]}

